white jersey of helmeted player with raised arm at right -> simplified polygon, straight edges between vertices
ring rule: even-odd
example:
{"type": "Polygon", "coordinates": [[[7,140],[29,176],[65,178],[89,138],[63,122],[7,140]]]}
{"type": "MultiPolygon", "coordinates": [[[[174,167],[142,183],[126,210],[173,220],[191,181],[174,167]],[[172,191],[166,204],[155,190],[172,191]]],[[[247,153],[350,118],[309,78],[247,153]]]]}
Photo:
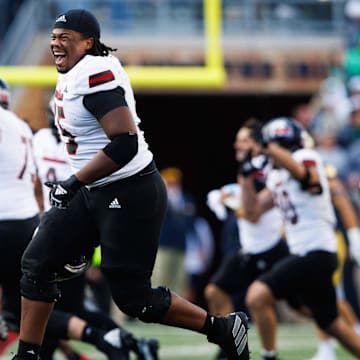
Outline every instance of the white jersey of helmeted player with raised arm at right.
{"type": "Polygon", "coordinates": [[[302,190],[299,181],[286,169],[270,172],[267,186],[283,213],[290,252],[298,255],[312,250],[335,252],[336,220],[322,159],[312,149],[297,150],[292,156],[298,163],[316,167],[323,191],[311,195],[302,190]]]}

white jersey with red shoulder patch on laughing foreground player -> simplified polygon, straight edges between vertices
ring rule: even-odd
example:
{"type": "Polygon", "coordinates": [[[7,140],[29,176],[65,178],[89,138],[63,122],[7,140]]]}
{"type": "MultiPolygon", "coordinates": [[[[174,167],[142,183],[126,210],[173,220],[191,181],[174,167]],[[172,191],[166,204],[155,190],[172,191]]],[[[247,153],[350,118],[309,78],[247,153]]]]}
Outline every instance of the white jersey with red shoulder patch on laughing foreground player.
{"type": "MultiPolygon", "coordinates": [[[[55,120],[62,140],[66,143],[72,172],[84,167],[109,142],[99,121],[84,107],[87,94],[121,87],[137,128],[140,119],[136,114],[135,99],[125,70],[112,56],[86,55],[70,71],[59,74],[55,91],[55,120]]],[[[138,153],[123,168],[91,186],[102,185],[131,176],[142,170],[153,158],[138,128],[138,153]]]]}

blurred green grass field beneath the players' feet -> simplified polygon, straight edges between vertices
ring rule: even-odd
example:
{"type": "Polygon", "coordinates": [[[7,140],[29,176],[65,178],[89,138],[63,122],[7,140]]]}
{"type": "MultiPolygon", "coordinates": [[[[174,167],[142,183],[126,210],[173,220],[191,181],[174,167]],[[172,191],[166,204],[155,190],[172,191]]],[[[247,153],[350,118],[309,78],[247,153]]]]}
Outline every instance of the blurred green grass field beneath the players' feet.
{"type": "MultiPolygon", "coordinates": [[[[212,360],[217,351],[216,346],[209,344],[204,336],[191,331],[138,322],[127,323],[126,328],[139,338],[157,338],[160,341],[160,360],[212,360]]],[[[252,353],[251,359],[260,359],[259,341],[254,327],[251,327],[249,331],[249,339],[252,353]]],[[[106,360],[104,355],[91,346],[78,342],[73,342],[73,345],[89,354],[94,360],[106,360]]],[[[16,345],[13,345],[9,350],[9,354],[1,357],[1,359],[10,359],[10,352],[15,349],[16,345]]],[[[313,326],[309,324],[280,325],[278,349],[281,360],[310,359],[316,349],[313,326]]],[[[355,359],[355,357],[346,353],[341,346],[337,346],[337,355],[339,360],[355,359]]],[[[64,357],[61,354],[56,355],[56,360],[63,359],[64,357]]],[[[131,359],[135,359],[135,357],[131,359]]]]}

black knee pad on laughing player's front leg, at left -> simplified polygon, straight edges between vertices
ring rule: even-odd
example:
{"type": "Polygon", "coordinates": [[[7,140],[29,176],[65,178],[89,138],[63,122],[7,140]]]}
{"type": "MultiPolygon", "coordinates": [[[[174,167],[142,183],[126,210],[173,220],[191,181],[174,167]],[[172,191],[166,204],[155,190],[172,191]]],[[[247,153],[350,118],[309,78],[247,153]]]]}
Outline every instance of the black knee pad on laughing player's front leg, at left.
{"type": "Polygon", "coordinates": [[[60,299],[60,291],[54,279],[40,279],[24,274],[20,280],[21,295],[29,300],[56,302],[60,299]]]}

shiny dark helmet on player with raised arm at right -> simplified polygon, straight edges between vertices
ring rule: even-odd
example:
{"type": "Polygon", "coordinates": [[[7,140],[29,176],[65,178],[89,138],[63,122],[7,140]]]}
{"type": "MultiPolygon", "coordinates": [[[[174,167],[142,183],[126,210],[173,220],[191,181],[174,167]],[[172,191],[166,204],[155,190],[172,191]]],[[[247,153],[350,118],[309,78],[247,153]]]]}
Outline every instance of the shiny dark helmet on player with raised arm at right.
{"type": "Polygon", "coordinates": [[[266,122],[261,133],[265,144],[274,142],[290,151],[295,151],[304,147],[304,131],[295,120],[278,117],[266,122]]]}

